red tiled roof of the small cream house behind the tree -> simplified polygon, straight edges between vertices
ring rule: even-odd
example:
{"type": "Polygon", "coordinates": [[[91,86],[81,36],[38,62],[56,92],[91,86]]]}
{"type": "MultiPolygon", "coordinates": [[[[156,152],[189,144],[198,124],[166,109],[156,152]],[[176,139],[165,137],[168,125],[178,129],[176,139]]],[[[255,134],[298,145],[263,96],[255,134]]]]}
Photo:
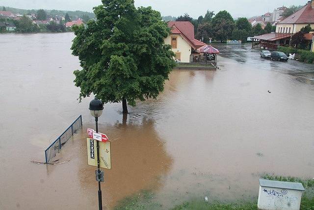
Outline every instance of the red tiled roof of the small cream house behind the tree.
{"type": "Polygon", "coordinates": [[[171,28],[173,34],[181,34],[194,49],[206,45],[194,38],[194,26],[189,21],[170,21],[168,22],[168,27],[171,28]]]}

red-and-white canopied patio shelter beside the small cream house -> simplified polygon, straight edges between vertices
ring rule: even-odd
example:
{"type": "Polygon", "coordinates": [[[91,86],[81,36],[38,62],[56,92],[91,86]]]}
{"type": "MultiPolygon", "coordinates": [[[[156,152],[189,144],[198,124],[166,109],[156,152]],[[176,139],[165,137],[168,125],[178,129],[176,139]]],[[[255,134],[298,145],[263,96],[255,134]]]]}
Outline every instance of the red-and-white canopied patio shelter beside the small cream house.
{"type": "Polygon", "coordinates": [[[217,54],[219,54],[219,50],[212,47],[211,45],[204,45],[203,47],[200,47],[196,49],[195,51],[197,55],[191,55],[191,62],[206,62],[206,65],[208,62],[212,63],[212,60],[214,60],[213,65],[217,66],[217,54]]]}

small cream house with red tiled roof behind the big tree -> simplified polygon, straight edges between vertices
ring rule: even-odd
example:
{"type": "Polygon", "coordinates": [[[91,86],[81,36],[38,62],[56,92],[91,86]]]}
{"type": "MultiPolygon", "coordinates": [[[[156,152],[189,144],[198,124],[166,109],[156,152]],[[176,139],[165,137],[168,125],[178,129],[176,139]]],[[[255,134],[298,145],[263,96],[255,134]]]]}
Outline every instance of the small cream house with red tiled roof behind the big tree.
{"type": "Polygon", "coordinates": [[[168,27],[171,28],[171,33],[165,38],[165,44],[172,46],[176,60],[190,62],[196,49],[206,45],[194,38],[194,26],[188,21],[170,21],[168,27]]]}

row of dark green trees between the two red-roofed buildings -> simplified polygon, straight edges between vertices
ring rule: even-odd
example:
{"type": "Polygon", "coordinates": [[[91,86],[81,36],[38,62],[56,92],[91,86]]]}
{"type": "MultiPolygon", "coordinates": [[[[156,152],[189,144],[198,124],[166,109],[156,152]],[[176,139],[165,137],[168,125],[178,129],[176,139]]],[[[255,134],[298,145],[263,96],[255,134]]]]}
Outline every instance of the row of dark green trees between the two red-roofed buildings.
{"type": "Polygon", "coordinates": [[[204,42],[209,42],[209,38],[218,41],[228,39],[247,41],[247,37],[270,33],[273,29],[270,23],[262,29],[261,24],[252,27],[247,18],[238,18],[234,20],[226,10],[218,12],[208,10],[205,16],[198,19],[191,18],[188,14],[179,16],[176,21],[189,21],[194,25],[195,38],[204,42]]]}

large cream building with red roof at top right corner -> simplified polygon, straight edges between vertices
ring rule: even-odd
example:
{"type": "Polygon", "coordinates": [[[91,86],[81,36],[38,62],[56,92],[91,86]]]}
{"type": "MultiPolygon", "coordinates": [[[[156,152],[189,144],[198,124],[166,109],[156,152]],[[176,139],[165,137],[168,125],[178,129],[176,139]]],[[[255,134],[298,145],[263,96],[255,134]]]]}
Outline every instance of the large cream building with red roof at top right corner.
{"type": "Polygon", "coordinates": [[[308,24],[314,28],[314,1],[276,24],[277,33],[296,33],[308,24]]]}

